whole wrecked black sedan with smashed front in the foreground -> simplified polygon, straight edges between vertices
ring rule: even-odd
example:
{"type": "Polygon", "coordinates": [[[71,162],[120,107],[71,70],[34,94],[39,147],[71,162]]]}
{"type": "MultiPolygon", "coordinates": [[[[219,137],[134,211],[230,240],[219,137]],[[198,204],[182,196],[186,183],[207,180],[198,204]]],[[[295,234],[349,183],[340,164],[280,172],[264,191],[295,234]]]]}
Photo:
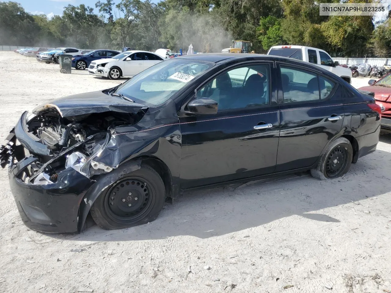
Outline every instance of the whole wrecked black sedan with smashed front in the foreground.
{"type": "Polygon", "coordinates": [[[80,232],[156,219],[184,189],[310,171],[376,150],[375,99],[318,66],[257,54],[158,63],[115,88],[25,112],[0,157],[25,224],[80,232]]]}

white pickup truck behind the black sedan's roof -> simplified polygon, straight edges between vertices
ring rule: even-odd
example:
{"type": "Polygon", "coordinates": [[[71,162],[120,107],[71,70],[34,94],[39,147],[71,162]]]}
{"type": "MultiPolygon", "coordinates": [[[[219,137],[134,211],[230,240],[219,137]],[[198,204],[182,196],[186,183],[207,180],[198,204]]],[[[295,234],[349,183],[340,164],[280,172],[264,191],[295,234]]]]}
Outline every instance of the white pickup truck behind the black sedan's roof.
{"type": "Polygon", "coordinates": [[[338,75],[347,82],[352,80],[352,71],[349,68],[338,66],[337,61],[333,61],[327,52],[306,46],[273,46],[267,52],[267,55],[277,55],[281,57],[290,57],[294,59],[303,60],[308,63],[316,64],[335,75],[338,75]]]}

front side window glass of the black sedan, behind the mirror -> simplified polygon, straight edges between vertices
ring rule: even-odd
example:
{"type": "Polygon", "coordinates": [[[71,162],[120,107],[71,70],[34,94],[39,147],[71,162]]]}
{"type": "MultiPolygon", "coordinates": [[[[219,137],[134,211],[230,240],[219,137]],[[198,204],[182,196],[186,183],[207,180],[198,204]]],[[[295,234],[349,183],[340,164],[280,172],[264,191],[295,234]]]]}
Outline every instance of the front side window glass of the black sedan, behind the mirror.
{"type": "Polygon", "coordinates": [[[269,104],[269,92],[269,65],[262,64],[219,74],[197,91],[197,98],[215,100],[219,113],[269,104]]]}

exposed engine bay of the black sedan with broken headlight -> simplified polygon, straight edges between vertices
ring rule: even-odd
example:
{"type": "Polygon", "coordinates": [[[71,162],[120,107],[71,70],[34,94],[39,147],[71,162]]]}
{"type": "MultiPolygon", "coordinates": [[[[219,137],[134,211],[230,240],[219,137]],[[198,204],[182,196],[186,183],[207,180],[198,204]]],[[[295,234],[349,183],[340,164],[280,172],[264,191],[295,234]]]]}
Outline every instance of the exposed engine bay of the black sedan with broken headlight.
{"type": "Polygon", "coordinates": [[[1,149],[1,163],[11,160],[11,166],[29,160],[29,167],[18,177],[32,184],[55,183],[68,168],[88,178],[110,172],[112,167],[93,159],[106,147],[116,127],[138,123],[147,111],[145,107],[134,107],[136,113],[127,113],[129,106],[126,107],[104,111],[104,106],[99,105],[101,112],[92,112],[91,107],[71,112],[69,108],[46,104],[33,113],[25,112],[11,131],[9,143],[1,149]]]}

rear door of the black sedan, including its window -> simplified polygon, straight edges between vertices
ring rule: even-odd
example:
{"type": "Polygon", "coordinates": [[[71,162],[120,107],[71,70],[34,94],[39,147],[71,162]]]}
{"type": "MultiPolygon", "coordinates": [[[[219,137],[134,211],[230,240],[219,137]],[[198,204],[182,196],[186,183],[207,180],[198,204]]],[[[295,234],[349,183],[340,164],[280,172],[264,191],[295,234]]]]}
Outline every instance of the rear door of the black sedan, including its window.
{"type": "Polygon", "coordinates": [[[276,172],[312,166],[341,132],[344,107],[337,82],[319,72],[279,63],[280,141],[276,172]]]}

